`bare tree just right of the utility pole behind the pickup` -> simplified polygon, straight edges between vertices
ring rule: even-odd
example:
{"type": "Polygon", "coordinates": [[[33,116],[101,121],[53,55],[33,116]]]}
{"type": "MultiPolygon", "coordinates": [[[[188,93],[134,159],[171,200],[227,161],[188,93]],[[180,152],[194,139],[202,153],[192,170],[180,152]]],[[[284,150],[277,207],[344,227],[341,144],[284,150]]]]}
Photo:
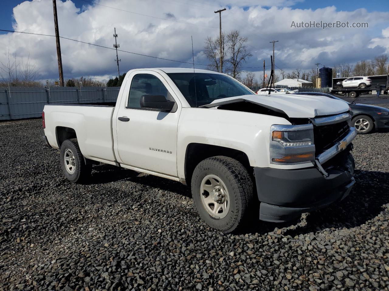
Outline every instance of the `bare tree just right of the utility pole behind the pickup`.
{"type": "Polygon", "coordinates": [[[226,71],[233,78],[239,78],[242,73],[239,66],[252,56],[251,52],[248,52],[246,49],[246,43],[247,37],[241,36],[238,30],[232,30],[227,35],[226,46],[229,58],[226,60],[226,63],[230,66],[226,68],[226,71]]]}

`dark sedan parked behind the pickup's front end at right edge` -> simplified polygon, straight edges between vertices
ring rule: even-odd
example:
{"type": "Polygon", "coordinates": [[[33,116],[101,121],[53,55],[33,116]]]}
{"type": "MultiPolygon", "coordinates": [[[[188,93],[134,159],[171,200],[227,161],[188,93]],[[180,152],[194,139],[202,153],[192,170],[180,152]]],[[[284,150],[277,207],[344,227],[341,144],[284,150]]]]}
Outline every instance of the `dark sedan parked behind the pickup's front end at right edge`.
{"type": "Polygon", "coordinates": [[[389,109],[385,107],[350,103],[332,94],[321,92],[298,92],[293,94],[326,96],[328,98],[338,99],[348,103],[352,114],[351,123],[357,130],[357,133],[369,133],[375,128],[389,128],[389,109]]]}

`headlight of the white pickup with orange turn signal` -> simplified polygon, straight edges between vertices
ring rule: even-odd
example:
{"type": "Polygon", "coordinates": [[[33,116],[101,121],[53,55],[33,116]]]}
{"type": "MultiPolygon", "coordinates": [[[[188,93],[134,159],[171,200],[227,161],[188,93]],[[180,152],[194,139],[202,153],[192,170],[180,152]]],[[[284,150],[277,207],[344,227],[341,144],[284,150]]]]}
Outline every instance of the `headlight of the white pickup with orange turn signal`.
{"type": "Polygon", "coordinates": [[[272,125],[270,163],[296,164],[315,160],[313,125],[272,125]]]}

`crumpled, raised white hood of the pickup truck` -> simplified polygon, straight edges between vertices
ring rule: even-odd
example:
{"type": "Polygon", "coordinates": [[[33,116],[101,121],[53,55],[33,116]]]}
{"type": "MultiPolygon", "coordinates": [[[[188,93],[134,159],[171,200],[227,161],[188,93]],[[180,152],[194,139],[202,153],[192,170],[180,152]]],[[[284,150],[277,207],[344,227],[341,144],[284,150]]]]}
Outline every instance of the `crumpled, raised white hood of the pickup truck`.
{"type": "MultiPolygon", "coordinates": [[[[251,102],[283,111],[290,118],[314,118],[349,111],[349,105],[341,100],[314,95],[243,95],[217,99],[202,107],[216,107],[235,102],[251,102]]],[[[277,111],[277,110],[276,110],[277,111]]]]}

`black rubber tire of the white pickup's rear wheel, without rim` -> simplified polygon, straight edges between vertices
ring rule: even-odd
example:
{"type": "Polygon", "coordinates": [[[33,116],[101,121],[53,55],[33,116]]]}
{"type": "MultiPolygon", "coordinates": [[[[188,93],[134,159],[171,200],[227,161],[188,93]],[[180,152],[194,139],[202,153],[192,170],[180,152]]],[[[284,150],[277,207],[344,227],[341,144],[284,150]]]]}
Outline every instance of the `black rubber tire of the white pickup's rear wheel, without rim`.
{"type": "Polygon", "coordinates": [[[82,184],[91,176],[92,166],[82,156],[77,139],[67,139],[61,145],[61,168],[65,177],[72,183],[82,184]],[[70,150],[74,156],[74,173],[67,170],[68,162],[65,161],[65,152],[70,150]]]}

